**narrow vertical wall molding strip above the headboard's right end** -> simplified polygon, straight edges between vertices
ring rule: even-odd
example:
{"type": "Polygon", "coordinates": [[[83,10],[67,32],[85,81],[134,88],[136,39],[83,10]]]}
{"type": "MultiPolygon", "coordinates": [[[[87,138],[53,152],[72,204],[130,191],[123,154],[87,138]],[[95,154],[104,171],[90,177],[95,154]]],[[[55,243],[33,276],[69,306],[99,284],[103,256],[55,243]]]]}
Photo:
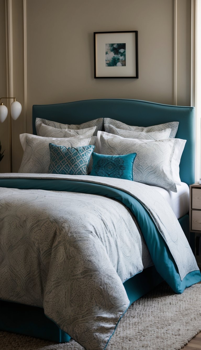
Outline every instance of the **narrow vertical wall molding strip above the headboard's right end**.
{"type": "Polygon", "coordinates": [[[173,105],[177,105],[177,0],[174,0],[173,105]]]}

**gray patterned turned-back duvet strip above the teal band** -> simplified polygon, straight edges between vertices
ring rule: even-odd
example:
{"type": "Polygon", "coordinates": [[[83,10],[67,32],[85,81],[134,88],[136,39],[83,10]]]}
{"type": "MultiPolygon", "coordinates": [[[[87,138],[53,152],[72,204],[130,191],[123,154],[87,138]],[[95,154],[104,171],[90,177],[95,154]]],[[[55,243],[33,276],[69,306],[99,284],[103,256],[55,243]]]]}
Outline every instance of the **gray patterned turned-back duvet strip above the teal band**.
{"type": "Polygon", "coordinates": [[[58,175],[58,174],[0,174],[0,179],[67,179],[105,184],[125,191],[136,198],[148,210],[152,220],[155,222],[159,232],[166,241],[174,261],[178,267],[181,280],[192,271],[199,270],[191,247],[174,215],[169,203],[156,191],[143,183],[124,179],[113,179],[99,176],[82,175],[58,175]]]}

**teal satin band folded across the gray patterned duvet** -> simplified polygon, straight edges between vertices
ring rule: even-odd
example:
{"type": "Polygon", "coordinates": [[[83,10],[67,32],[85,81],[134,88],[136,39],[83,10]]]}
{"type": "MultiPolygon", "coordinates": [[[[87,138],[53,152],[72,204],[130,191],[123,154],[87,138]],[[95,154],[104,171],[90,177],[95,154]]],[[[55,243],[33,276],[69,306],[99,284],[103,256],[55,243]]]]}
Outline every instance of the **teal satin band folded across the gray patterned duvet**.
{"type": "Polygon", "coordinates": [[[149,213],[140,202],[124,191],[83,181],[48,179],[1,179],[0,187],[70,191],[114,198],[125,204],[135,215],[157,272],[174,292],[182,293],[186,287],[201,281],[199,270],[188,273],[181,281],[177,265],[149,213]]]}

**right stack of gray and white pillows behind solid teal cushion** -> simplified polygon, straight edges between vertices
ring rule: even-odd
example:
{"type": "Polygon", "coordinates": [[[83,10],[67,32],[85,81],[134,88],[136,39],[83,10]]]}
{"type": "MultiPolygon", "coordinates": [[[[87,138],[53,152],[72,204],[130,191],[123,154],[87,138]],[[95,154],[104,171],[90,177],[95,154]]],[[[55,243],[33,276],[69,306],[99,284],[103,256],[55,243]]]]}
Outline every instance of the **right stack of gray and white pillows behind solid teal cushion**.
{"type": "Polygon", "coordinates": [[[186,143],[175,139],[178,126],[175,121],[139,127],[104,118],[105,132],[99,131],[97,135],[98,152],[105,155],[135,152],[133,181],[177,192],[176,185],[181,185],[179,163],[186,143]]]}

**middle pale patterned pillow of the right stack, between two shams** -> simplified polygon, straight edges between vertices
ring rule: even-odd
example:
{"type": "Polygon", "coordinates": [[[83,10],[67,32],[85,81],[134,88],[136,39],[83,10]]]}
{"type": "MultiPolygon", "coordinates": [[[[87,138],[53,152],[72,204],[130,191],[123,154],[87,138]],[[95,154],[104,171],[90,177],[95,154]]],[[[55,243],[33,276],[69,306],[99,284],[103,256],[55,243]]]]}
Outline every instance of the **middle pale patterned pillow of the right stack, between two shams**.
{"type": "Polygon", "coordinates": [[[110,128],[110,133],[114,135],[119,135],[128,139],[142,139],[142,140],[162,140],[168,139],[170,133],[172,131],[171,128],[164,129],[161,131],[151,131],[151,132],[143,132],[143,131],[131,131],[116,128],[113,125],[108,125],[110,128]]]}

